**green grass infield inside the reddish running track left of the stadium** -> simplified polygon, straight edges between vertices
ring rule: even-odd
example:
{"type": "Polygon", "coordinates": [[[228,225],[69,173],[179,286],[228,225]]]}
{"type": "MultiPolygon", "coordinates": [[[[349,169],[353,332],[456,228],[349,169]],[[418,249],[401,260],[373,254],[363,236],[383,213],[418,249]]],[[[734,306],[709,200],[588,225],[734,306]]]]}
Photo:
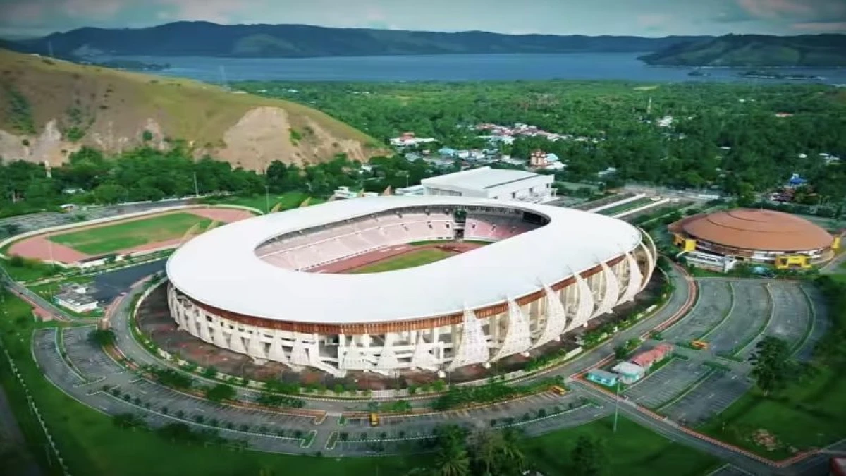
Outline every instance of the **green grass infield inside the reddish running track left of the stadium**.
{"type": "Polygon", "coordinates": [[[91,230],[52,235],[50,240],[70,246],[78,252],[102,255],[147,243],[181,238],[195,224],[200,224],[200,229],[205,230],[211,224],[211,220],[193,213],[168,213],[149,219],[137,219],[91,230]]]}

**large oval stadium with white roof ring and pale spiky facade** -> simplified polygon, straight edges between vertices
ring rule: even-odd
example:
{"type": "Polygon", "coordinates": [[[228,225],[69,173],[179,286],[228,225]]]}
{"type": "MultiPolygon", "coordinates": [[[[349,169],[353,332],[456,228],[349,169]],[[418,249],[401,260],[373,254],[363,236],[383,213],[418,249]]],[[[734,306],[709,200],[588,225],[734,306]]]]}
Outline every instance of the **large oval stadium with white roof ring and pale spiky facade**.
{"type": "Polygon", "coordinates": [[[258,363],[449,372],[560,340],[634,300],[655,263],[648,235],[595,213],[378,196],[195,237],[168,260],[168,307],[179,329],[258,363]],[[361,267],[420,248],[436,256],[361,267]]]}

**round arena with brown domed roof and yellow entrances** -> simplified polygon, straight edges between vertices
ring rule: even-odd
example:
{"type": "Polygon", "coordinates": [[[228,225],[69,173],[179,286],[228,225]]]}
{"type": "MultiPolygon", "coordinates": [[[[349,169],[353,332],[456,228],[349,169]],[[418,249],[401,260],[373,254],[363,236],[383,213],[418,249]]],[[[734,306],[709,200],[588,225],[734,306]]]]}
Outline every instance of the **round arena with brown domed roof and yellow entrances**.
{"type": "Polygon", "coordinates": [[[700,213],[669,226],[674,242],[695,256],[730,257],[776,268],[810,268],[833,257],[839,238],[806,219],[738,208],[700,213]]]}

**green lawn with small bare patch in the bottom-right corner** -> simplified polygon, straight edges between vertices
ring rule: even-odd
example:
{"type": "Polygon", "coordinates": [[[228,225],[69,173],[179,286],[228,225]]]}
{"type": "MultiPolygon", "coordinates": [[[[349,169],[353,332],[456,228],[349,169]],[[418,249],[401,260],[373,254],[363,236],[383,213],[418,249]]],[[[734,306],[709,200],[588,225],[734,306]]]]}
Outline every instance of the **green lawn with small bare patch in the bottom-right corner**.
{"type": "Polygon", "coordinates": [[[844,395],[846,379],[838,371],[824,368],[768,397],[760,390],[750,390],[701,429],[766,457],[789,457],[790,446],[801,451],[846,437],[844,395]],[[770,451],[755,444],[750,435],[758,429],[776,436],[781,445],[770,451]]]}

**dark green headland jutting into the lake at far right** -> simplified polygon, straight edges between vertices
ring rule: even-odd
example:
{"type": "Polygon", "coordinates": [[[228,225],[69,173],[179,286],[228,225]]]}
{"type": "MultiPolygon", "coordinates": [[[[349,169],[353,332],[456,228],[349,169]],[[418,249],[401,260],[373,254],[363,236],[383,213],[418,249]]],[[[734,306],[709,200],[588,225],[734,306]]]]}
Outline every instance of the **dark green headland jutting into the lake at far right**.
{"type": "Polygon", "coordinates": [[[640,59],[664,66],[846,66],[846,35],[727,35],[678,43],[640,59]]]}

